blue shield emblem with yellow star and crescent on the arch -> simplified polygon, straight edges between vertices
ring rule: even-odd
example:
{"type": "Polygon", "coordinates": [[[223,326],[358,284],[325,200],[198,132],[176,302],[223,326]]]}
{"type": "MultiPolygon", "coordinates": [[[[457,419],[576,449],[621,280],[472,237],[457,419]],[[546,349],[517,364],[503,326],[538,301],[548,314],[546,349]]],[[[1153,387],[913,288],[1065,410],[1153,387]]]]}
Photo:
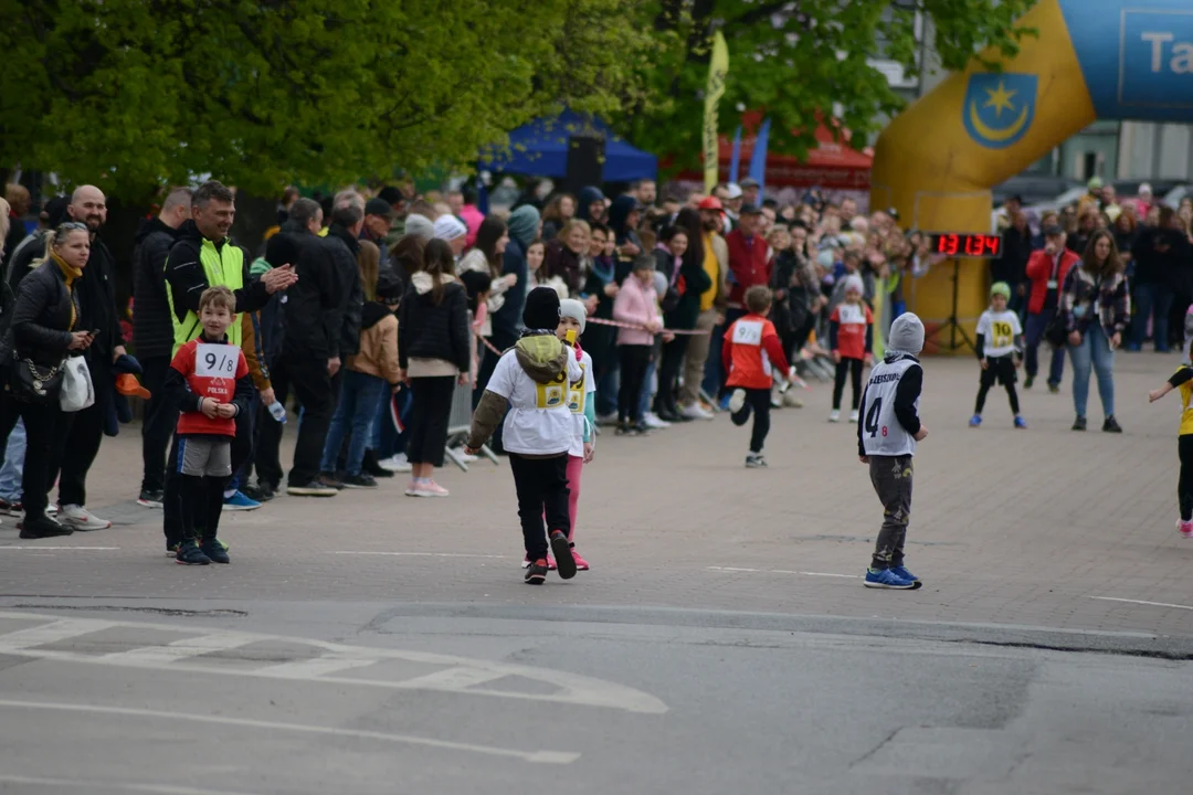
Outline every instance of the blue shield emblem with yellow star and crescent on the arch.
{"type": "Polygon", "coordinates": [[[962,106],[965,131],[987,149],[1014,145],[1036,119],[1038,89],[1039,77],[1033,74],[971,74],[962,106]]]}

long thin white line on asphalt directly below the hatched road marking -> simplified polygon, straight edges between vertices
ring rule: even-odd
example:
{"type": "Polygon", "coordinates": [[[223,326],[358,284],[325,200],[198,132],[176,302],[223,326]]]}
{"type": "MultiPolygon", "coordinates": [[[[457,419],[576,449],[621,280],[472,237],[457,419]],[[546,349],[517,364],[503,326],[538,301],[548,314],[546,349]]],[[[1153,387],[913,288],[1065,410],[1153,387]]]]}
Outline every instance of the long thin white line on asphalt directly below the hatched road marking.
{"type": "Polygon", "coordinates": [[[310,726],[307,723],[279,723],[268,720],[252,720],[248,718],[225,718],[223,715],[187,715],[173,712],[159,712],[156,709],[134,709],[130,707],[103,707],[98,704],[67,704],[49,701],[11,701],[0,700],[0,707],[12,709],[33,709],[47,712],[89,713],[93,715],[123,715],[125,718],[146,718],[153,720],[191,721],[196,723],[215,723],[217,726],[237,726],[242,728],[272,729],[279,732],[298,732],[303,734],[324,734],[328,737],[347,737],[358,740],[379,740],[383,743],[396,743],[404,745],[421,745],[432,749],[446,749],[450,751],[469,751],[483,753],[490,757],[507,757],[533,762],[538,764],[570,764],[580,758],[573,751],[518,751],[515,749],[501,749],[493,745],[475,745],[472,743],[452,743],[451,740],[437,740],[429,737],[415,737],[413,734],[390,734],[387,732],[370,732],[354,728],[335,728],[330,726],[310,726]]]}

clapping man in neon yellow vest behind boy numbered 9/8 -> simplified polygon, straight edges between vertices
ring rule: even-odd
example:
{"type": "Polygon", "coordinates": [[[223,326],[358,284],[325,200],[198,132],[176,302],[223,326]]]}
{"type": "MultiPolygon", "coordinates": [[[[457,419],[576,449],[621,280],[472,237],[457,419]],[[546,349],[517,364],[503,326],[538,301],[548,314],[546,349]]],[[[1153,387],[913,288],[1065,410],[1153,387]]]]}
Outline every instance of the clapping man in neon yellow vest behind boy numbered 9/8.
{"type": "MultiPolygon", "coordinates": [[[[228,287],[236,297],[237,313],[254,312],[265,306],[270,296],[297,280],[292,263],[273,268],[256,280],[249,278],[243,249],[228,238],[228,230],[236,217],[235,195],[228,187],[215,180],[204,182],[192,197],[191,212],[192,219],[179,229],[178,241],[166,259],[166,294],[174,324],[174,353],[203,331],[198,317],[199,296],[208,287],[228,287]]],[[[231,324],[228,337],[231,344],[240,344],[240,323],[231,324]]],[[[248,458],[252,441],[252,417],[237,415],[236,437],[231,446],[233,472],[248,458]]],[[[162,508],[166,547],[171,549],[181,541],[177,439],[171,445],[167,461],[162,508]]]]}

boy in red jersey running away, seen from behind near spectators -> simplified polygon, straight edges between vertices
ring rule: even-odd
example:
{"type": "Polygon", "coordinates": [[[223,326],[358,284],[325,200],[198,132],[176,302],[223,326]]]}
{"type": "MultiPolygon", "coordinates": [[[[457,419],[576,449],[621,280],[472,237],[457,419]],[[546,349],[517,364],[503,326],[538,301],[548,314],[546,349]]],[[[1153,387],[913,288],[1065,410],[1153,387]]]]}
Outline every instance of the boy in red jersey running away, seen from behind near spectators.
{"type": "Polygon", "coordinates": [[[771,311],[771,290],[755,285],[746,291],[746,309],[748,315],[738,318],[725,329],[725,342],[721,358],[729,373],[727,385],[733,390],[729,398],[729,410],[735,426],[744,426],[754,412],[754,430],[749,440],[749,454],[746,466],[756,468],[766,466],[762,458],[762,445],[771,430],[771,384],[772,373],[778,367],[780,373],[787,372],[787,358],[783,353],[783,341],[774,323],[766,319],[771,311]]]}

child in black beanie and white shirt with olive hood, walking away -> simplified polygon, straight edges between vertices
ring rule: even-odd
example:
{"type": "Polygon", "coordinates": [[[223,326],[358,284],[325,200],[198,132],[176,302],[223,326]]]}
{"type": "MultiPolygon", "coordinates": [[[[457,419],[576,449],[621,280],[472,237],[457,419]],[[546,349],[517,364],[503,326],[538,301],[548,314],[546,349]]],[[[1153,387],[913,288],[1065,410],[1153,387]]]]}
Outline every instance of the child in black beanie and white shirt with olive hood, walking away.
{"type": "Polygon", "coordinates": [[[536,287],[526,297],[518,343],[497,361],[484,389],[465,451],[476,451],[502,422],[502,446],[518,491],[526,557],[526,582],[542,585],[549,571],[548,544],[560,577],[576,576],[568,534],[568,451],[576,437],[576,417],[568,406],[570,385],[583,378],[575,350],[556,336],[560,294],[536,287]],[[507,412],[508,409],[508,412],[507,412]],[[546,516],[546,534],[543,517],[546,516]]]}

